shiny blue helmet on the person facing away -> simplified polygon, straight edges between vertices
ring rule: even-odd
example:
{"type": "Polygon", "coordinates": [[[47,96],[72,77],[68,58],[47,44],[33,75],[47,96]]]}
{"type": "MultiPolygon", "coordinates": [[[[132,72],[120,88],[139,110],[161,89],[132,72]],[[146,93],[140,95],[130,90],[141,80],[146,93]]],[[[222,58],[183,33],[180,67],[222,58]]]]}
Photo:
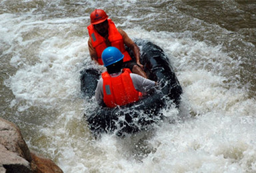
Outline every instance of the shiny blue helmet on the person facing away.
{"type": "Polygon", "coordinates": [[[124,56],[125,55],[123,55],[116,47],[107,47],[101,54],[101,58],[105,67],[117,63],[123,59],[124,56]]]}

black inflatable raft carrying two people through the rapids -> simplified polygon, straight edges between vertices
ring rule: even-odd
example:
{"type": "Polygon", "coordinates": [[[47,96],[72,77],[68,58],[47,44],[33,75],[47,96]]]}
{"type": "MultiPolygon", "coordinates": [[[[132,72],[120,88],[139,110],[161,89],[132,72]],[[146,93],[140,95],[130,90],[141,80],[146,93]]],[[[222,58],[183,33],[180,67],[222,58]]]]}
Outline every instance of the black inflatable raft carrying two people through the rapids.
{"type": "MultiPolygon", "coordinates": [[[[175,76],[167,55],[149,41],[135,41],[141,49],[141,63],[149,79],[157,81],[158,87],[138,102],[115,108],[99,106],[85,112],[89,128],[93,134],[102,132],[123,135],[147,130],[162,120],[161,109],[167,106],[167,100],[179,107],[182,88],[175,76]]],[[[131,50],[128,50],[133,57],[131,50]]],[[[96,69],[81,72],[81,90],[91,98],[95,94],[97,81],[101,73],[96,69]]]]}

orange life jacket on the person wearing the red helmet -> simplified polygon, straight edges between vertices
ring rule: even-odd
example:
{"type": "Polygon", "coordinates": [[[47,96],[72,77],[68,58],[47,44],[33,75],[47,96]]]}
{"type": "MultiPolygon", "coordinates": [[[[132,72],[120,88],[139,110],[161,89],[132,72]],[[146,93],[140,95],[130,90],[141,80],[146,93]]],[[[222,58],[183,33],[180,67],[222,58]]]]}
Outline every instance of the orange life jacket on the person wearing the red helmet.
{"type": "MultiPolygon", "coordinates": [[[[113,23],[113,21],[111,21],[111,19],[107,19],[108,23],[109,23],[109,42],[111,43],[112,47],[116,47],[117,49],[119,49],[119,51],[121,51],[121,53],[123,53],[123,55],[125,55],[125,57],[123,57],[123,62],[125,61],[131,61],[131,57],[129,55],[129,53],[125,50],[125,45],[123,43],[123,37],[122,35],[119,33],[119,31],[117,30],[117,28],[115,27],[115,23],[113,23]]],[[[91,42],[93,44],[93,47],[95,48],[96,52],[97,52],[97,61],[100,65],[103,65],[103,61],[101,59],[101,53],[104,51],[104,49],[107,48],[107,45],[105,43],[106,39],[104,37],[102,37],[101,35],[99,35],[99,33],[96,31],[96,29],[93,27],[93,25],[89,25],[87,27],[88,31],[89,31],[89,37],[91,38],[91,42]]]]}

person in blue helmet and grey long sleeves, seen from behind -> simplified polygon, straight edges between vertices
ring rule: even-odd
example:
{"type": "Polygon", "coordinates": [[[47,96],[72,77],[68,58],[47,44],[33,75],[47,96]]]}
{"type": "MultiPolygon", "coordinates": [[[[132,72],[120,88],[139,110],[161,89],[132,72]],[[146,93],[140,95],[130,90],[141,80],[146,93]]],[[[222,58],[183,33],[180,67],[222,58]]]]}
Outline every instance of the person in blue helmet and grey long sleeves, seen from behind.
{"type": "Polygon", "coordinates": [[[116,47],[107,47],[101,57],[107,71],[101,74],[95,90],[100,105],[113,108],[137,102],[157,85],[155,81],[131,73],[130,69],[123,69],[124,55],[116,47]]]}

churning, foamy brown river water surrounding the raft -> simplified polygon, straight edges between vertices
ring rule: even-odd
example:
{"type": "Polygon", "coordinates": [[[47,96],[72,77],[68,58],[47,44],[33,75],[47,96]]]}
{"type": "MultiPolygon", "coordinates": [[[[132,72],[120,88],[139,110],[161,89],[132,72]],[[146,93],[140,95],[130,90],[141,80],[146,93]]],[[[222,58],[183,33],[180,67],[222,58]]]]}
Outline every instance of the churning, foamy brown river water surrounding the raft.
{"type": "Polygon", "coordinates": [[[0,116],[64,172],[256,172],[256,1],[0,1],[0,116]],[[79,72],[89,14],[159,45],[183,87],[155,130],[95,140],[79,72]]]}

